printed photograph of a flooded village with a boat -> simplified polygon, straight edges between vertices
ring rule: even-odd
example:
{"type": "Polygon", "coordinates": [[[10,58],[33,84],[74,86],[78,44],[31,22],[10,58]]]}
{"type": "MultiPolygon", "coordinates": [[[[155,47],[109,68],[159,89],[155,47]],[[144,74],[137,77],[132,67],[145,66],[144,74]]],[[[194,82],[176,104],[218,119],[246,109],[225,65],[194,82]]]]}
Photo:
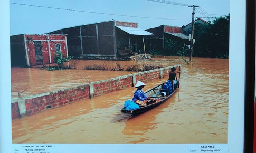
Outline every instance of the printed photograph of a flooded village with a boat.
{"type": "Polygon", "coordinates": [[[227,144],[229,4],[11,0],[12,143],[227,144]]]}

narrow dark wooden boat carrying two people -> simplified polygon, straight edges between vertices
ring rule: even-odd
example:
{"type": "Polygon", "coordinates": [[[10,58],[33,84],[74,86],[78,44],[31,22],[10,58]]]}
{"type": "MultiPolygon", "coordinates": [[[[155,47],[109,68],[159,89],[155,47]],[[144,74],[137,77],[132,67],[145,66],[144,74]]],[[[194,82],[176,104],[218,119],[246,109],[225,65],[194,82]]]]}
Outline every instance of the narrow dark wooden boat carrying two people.
{"type": "Polygon", "coordinates": [[[149,101],[149,102],[147,102],[146,105],[139,104],[139,108],[133,109],[133,110],[127,110],[126,107],[124,107],[124,108],[121,109],[121,112],[122,113],[129,113],[129,114],[132,114],[132,115],[139,114],[139,113],[143,113],[145,111],[148,111],[150,109],[153,109],[153,108],[159,106],[159,104],[164,103],[167,99],[172,97],[172,95],[177,91],[178,85],[176,85],[174,90],[163,89],[163,85],[164,85],[164,83],[162,83],[160,85],[157,85],[157,87],[154,87],[153,89],[150,89],[149,91],[145,92],[147,97],[150,97],[150,98],[154,99],[154,101],[149,101]],[[166,93],[170,92],[170,93],[164,95],[163,92],[166,92],[166,93]]]}

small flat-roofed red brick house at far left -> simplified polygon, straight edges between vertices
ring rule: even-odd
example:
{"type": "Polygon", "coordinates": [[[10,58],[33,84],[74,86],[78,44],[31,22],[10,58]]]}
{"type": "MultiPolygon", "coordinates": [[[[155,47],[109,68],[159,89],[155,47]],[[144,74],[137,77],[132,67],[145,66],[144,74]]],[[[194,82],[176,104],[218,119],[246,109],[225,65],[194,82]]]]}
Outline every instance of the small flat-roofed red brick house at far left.
{"type": "Polygon", "coordinates": [[[56,52],[68,56],[65,35],[20,34],[10,37],[11,66],[35,66],[54,62],[56,52]]]}

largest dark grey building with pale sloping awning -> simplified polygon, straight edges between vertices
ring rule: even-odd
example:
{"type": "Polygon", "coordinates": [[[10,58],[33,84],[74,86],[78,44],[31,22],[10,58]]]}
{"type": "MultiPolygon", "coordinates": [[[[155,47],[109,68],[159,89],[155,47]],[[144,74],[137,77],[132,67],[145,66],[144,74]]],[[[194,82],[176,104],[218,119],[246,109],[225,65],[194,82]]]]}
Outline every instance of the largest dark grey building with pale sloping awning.
{"type": "Polygon", "coordinates": [[[139,45],[140,39],[153,35],[138,28],[137,23],[115,20],[63,28],[48,34],[67,35],[69,55],[92,59],[131,56],[144,47],[139,45]]]}

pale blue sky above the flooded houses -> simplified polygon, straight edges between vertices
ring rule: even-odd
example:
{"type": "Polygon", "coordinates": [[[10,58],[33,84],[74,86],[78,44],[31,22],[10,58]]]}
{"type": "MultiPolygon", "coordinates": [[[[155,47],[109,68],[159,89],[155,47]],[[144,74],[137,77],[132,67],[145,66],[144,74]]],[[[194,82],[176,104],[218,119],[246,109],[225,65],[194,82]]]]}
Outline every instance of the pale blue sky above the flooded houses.
{"type": "Polygon", "coordinates": [[[10,35],[45,34],[110,20],[135,22],[142,29],[182,27],[192,21],[192,5],[199,6],[195,18],[205,21],[230,13],[229,0],[10,0],[10,35]]]}

